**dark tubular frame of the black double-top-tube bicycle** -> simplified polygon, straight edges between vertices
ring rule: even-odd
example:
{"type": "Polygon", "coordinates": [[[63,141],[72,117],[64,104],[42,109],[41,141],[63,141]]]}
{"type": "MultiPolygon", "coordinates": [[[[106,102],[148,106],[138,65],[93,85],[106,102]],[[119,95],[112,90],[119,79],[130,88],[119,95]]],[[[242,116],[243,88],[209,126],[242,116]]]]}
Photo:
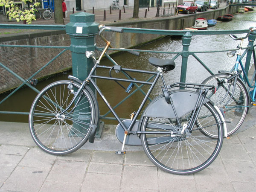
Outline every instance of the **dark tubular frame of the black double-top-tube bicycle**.
{"type": "MultiPolygon", "coordinates": [[[[109,55],[106,53],[108,47],[110,47],[110,42],[106,42],[106,47],[105,49],[102,51],[102,54],[100,55],[99,59],[96,60],[95,58],[95,65],[93,66],[92,70],[90,71],[89,75],[87,76],[87,78],[83,81],[81,87],[79,88],[79,90],[77,91],[76,96],[73,98],[73,101],[71,102],[71,104],[78,99],[79,97],[79,93],[81,93],[81,90],[84,88],[84,86],[87,86],[89,83],[91,83],[93,85],[93,87],[96,89],[96,91],[99,93],[99,95],[101,96],[101,98],[103,99],[103,101],[106,103],[106,105],[108,106],[108,108],[110,109],[110,111],[113,113],[114,117],[116,118],[116,120],[119,122],[119,124],[122,126],[123,130],[125,131],[125,135],[127,134],[143,134],[143,133],[148,133],[147,132],[143,132],[143,131],[131,131],[131,129],[133,128],[140,112],[142,111],[146,100],[148,99],[149,95],[151,94],[151,91],[153,90],[155,84],[157,83],[157,80],[159,79],[159,77],[161,77],[162,81],[163,81],[163,90],[166,91],[166,93],[169,93],[168,88],[172,88],[172,85],[167,87],[164,79],[163,79],[163,68],[158,67],[157,71],[158,72],[151,72],[151,71],[146,71],[146,70],[134,70],[134,69],[127,69],[127,68],[122,68],[122,71],[128,71],[128,72],[135,72],[135,73],[146,73],[146,74],[152,74],[155,76],[154,81],[153,82],[148,82],[148,81],[138,81],[138,80],[134,80],[134,79],[119,79],[119,78],[113,78],[113,77],[107,77],[107,76],[97,76],[97,75],[93,75],[94,72],[96,71],[97,68],[102,68],[102,69],[111,69],[112,67],[107,67],[107,66],[100,66],[100,61],[103,57],[103,55],[107,55],[109,57],[109,55]],[[99,87],[97,86],[96,82],[93,79],[105,79],[105,80],[113,80],[113,81],[125,81],[125,82],[130,82],[130,83],[138,83],[138,84],[147,84],[147,85],[151,85],[150,88],[148,89],[148,92],[146,93],[137,113],[135,114],[134,118],[131,121],[131,124],[129,125],[129,127],[127,128],[122,120],[119,118],[119,116],[116,114],[116,112],[113,110],[113,108],[111,107],[111,105],[109,104],[109,102],[107,101],[107,99],[105,98],[105,96],[103,95],[103,93],[101,92],[101,90],[99,89],[99,87]]],[[[75,79],[72,76],[69,76],[70,79],[75,79]]],[[[186,84],[186,83],[183,83],[186,84]]],[[[200,84],[193,84],[194,86],[200,86],[200,84]]],[[[176,86],[177,87],[177,86],[176,86]]],[[[203,87],[207,87],[207,85],[203,85],[203,87]]],[[[192,87],[193,88],[193,87],[192,87]]],[[[195,88],[195,87],[194,87],[195,88]]],[[[199,88],[198,88],[199,89],[199,88]]],[[[169,96],[169,101],[170,104],[172,106],[172,109],[175,113],[175,117],[176,117],[176,121],[177,121],[177,126],[179,127],[180,131],[173,131],[172,129],[170,129],[170,131],[159,131],[158,134],[183,134],[182,130],[184,131],[186,128],[189,129],[189,131],[192,131],[193,126],[195,125],[195,121],[198,117],[199,111],[203,105],[205,96],[207,94],[208,88],[200,88],[200,92],[198,94],[198,99],[196,101],[196,105],[194,108],[194,111],[192,113],[192,118],[189,120],[188,125],[181,125],[180,121],[178,120],[178,116],[176,113],[176,110],[174,108],[174,105],[172,103],[172,98],[170,96],[170,94],[168,94],[169,96]]],[[[70,104],[70,105],[71,105],[70,104]]],[[[63,113],[63,112],[62,112],[63,113]]],[[[156,133],[154,133],[156,134],[156,133]]]]}

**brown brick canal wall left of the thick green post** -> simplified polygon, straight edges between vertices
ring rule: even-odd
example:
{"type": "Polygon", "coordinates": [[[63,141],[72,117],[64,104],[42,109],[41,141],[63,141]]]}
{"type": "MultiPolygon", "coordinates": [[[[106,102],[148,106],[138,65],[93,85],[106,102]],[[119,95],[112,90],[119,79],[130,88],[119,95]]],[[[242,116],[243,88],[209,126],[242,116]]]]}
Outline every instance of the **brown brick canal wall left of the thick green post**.
{"type": "MultiPolygon", "coordinates": [[[[70,38],[66,34],[50,35],[38,38],[29,38],[16,41],[3,42],[2,44],[37,45],[37,46],[70,46],[70,38]]],[[[21,48],[0,47],[0,62],[23,79],[28,79],[47,62],[54,58],[63,49],[54,48],[21,48]]],[[[51,75],[72,67],[70,51],[64,52],[44,70],[38,73],[34,79],[51,75]]],[[[0,67],[0,93],[17,87],[21,81],[15,78],[7,70],[0,67]]]]}

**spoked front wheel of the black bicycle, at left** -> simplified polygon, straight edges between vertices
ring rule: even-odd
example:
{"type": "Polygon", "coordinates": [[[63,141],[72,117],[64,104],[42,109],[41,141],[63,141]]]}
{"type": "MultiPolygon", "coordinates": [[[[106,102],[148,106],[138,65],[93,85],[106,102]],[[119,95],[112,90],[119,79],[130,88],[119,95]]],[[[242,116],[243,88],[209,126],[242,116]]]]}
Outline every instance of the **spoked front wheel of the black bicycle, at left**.
{"type": "Polygon", "coordinates": [[[49,154],[63,155],[78,150],[88,140],[91,125],[97,124],[98,104],[87,86],[82,90],[83,96],[76,109],[72,111],[73,104],[64,115],[60,115],[78,88],[79,84],[69,80],[53,82],[41,90],[31,106],[30,133],[35,143],[49,154]],[[73,87],[67,88],[70,85],[73,87]]]}

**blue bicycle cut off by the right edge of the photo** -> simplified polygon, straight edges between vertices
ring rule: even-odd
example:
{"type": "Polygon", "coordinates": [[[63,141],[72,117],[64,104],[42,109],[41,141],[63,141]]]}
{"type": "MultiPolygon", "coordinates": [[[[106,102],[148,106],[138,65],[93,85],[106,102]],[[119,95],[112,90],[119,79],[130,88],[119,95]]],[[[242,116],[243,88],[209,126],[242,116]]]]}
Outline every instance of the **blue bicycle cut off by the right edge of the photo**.
{"type": "MultiPolygon", "coordinates": [[[[224,117],[227,123],[227,136],[233,134],[244,122],[244,118],[248,112],[250,105],[256,105],[256,55],[255,45],[252,47],[243,48],[244,39],[255,31],[256,28],[250,29],[250,32],[246,36],[238,38],[236,35],[229,35],[233,40],[239,41],[238,53],[236,51],[228,52],[229,57],[237,55],[236,63],[230,71],[219,71],[218,74],[209,76],[205,79],[202,84],[210,84],[215,86],[215,93],[208,93],[207,97],[211,99],[215,105],[224,111],[224,117]],[[242,53],[242,49],[245,49],[242,53]],[[254,60],[254,73],[251,81],[248,79],[247,73],[244,70],[242,59],[247,54],[248,50],[253,49],[253,60],[254,60]],[[239,66],[241,70],[239,70],[239,66]],[[244,77],[242,77],[243,73],[244,77]],[[248,90],[246,84],[248,86],[248,90]],[[251,89],[251,90],[250,90],[251,89]]],[[[207,133],[207,131],[205,132],[207,133]]],[[[215,135],[207,134],[208,136],[215,137],[215,135]]]]}

